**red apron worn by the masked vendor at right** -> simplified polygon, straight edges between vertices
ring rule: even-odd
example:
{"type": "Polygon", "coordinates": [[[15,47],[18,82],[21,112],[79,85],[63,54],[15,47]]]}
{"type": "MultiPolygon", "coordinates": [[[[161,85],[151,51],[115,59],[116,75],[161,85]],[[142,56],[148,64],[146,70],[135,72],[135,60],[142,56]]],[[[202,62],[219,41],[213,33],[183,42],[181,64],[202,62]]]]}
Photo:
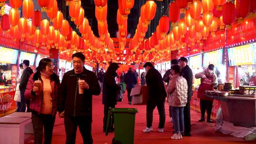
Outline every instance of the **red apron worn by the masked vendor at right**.
{"type": "Polygon", "coordinates": [[[209,97],[206,97],[204,96],[205,94],[205,90],[213,90],[213,76],[212,75],[208,75],[208,74],[205,74],[206,78],[207,79],[202,79],[201,78],[201,84],[198,88],[198,93],[197,93],[197,97],[199,99],[204,99],[204,100],[210,100],[210,101],[213,101],[213,99],[209,98],[209,97]]]}

